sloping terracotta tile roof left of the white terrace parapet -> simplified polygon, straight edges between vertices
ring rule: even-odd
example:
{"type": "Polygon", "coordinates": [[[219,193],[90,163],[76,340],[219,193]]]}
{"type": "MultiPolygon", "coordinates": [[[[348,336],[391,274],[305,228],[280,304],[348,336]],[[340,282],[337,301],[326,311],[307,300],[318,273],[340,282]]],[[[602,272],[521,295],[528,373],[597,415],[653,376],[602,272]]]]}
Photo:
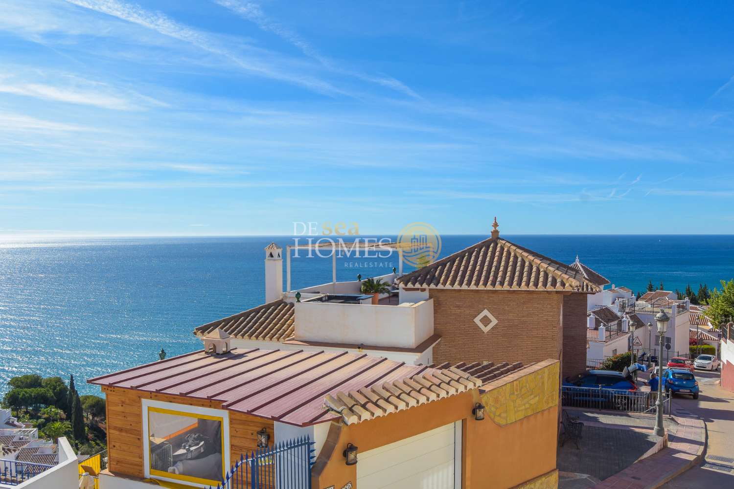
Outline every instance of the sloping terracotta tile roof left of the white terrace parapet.
{"type": "Polygon", "coordinates": [[[235,338],[282,342],[293,336],[294,306],[278,299],[198,326],[194,334],[206,336],[217,328],[235,338]]]}

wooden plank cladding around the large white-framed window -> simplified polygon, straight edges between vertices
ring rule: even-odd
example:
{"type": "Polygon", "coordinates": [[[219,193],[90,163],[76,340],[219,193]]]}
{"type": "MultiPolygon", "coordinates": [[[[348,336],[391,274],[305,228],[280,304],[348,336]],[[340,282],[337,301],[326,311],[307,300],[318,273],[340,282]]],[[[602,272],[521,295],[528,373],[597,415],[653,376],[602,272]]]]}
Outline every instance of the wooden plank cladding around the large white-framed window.
{"type": "MultiPolygon", "coordinates": [[[[145,477],[143,469],[142,439],[142,400],[151,399],[221,409],[222,403],[187,397],[154,394],[152,392],[120,389],[103,386],[107,409],[107,454],[109,471],[132,477],[145,477]]],[[[243,413],[228,411],[230,423],[230,463],[239,460],[240,455],[257,448],[255,433],[265,427],[270,434],[270,442],[275,441],[274,424],[268,419],[257,418],[243,413]]]]}

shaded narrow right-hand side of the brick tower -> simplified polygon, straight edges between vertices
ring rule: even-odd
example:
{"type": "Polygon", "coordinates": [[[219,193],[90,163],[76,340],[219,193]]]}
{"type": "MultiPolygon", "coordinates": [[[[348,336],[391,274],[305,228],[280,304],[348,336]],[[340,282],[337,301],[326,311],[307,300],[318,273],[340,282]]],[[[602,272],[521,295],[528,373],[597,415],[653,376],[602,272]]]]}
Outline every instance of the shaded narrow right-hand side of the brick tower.
{"type": "Polygon", "coordinates": [[[586,294],[563,297],[563,368],[562,377],[586,369],[586,294]]]}

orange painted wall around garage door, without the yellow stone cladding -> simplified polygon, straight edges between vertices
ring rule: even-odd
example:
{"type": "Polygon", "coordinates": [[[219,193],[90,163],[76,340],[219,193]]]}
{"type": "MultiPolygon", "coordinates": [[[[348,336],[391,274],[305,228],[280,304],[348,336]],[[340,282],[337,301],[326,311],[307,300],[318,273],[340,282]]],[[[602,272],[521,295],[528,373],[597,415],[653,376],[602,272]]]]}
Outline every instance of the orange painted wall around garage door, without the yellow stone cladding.
{"type": "MultiPolygon", "coordinates": [[[[556,469],[557,405],[501,427],[488,416],[483,421],[473,419],[471,409],[476,402],[479,392],[475,389],[390,416],[343,425],[341,433],[333,425],[333,433],[338,433],[338,437],[334,436],[330,456],[329,441],[319,455],[319,460],[328,457],[328,462],[314,474],[313,488],[333,485],[340,489],[352,482],[358,489],[357,466],[344,464],[347,443],[366,452],[459,420],[464,427],[462,487],[512,488],[556,469]]],[[[315,468],[318,466],[319,463],[315,468]]]]}

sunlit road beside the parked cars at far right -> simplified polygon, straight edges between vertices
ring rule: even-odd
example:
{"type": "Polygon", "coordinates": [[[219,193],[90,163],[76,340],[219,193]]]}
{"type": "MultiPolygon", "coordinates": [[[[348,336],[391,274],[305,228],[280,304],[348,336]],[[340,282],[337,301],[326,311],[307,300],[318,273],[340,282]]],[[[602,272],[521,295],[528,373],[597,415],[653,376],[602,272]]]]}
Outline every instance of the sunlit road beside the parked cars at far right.
{"type": "Polygon", "coordinates": [[[666,489],[734,488],[734,392],[718,385],[718,372],[696,372],[701,394],[698,400],[673,397],[674,405],[691,411],[706,422],[708,441],[705,461],[680,474],[666,489]]]}

